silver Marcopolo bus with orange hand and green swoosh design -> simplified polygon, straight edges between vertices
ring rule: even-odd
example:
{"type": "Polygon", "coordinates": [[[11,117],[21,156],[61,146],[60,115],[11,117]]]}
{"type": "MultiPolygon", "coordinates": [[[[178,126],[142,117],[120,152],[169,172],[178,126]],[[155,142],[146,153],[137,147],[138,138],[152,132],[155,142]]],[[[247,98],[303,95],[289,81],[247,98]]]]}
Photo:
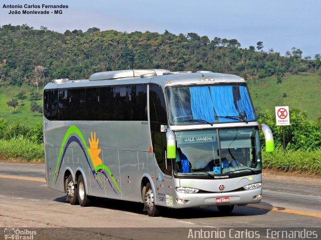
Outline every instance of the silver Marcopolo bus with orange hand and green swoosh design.
{"type": "Polygon", "coordinates": [[[258,203],[259,130],[244,79],[209,71],[101,72],[53,80],[44,89],[48,187],[71,204],[98,198],[162,207],[258,203]]]}

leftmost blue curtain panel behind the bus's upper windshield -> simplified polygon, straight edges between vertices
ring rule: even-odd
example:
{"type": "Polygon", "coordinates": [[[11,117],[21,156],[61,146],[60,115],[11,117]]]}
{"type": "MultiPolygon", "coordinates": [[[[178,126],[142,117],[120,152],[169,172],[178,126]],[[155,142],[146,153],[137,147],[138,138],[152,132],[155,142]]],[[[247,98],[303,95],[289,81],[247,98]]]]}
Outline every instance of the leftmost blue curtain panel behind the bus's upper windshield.
{"type": "Polygon", "coordinates": [[[215,122],[213,103],[209,88],[191,87],[191,109],[193,119],[203,119],[208,122],[215,122]]]}

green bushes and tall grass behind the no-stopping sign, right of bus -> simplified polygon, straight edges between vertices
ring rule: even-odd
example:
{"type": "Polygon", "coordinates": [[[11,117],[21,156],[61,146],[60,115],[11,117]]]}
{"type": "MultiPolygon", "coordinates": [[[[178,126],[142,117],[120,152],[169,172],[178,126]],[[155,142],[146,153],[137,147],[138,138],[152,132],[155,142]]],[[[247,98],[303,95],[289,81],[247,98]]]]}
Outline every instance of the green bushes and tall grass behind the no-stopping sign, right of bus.
{"type": "Polygon", "coordinates": [[[290,126],[284,126],[286,151],[282,144],[282,127],[276,126],[275,116],[268,110],[259,116],[259,122],[267,124],[275,143],[274,152],[265,152],[261,133],[263,168],[298,171],[321,175],[321,119],[307,121],[307,112],[290,109],[290,126]]]}

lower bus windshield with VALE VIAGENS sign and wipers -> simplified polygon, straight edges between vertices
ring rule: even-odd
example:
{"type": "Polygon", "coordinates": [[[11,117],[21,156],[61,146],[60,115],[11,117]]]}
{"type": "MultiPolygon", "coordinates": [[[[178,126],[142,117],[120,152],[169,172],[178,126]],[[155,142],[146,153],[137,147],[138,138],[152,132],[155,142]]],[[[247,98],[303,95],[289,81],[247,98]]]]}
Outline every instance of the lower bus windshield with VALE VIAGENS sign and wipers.
{"type": "Polygon", "coordinates": [[[256,127],[175,132],[176,175],[254,173],[262,169],[256,127]]]}

